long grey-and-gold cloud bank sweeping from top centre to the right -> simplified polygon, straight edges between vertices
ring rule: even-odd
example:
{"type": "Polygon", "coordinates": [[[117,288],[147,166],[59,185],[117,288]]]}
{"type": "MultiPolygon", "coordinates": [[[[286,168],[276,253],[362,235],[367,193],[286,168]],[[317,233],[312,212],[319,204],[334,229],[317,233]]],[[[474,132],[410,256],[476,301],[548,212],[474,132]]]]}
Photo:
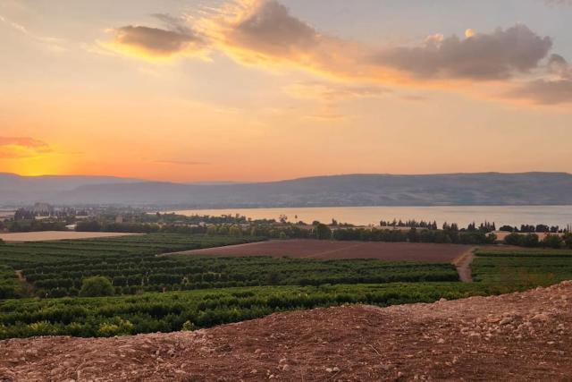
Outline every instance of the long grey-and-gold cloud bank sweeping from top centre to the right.
{"type": "Polygon", "coordinates": [[[379,49],[320,33],[276,0],[243,0],[215,19],[214,40],[250,64],[297,64],[345,79],[390,84],[493,81],[534,71],[552,41],[526,25],[465,37],[429,36],[415,46],[379,49]],[[229,16],[229,13],[231,14],[229,16]]]}

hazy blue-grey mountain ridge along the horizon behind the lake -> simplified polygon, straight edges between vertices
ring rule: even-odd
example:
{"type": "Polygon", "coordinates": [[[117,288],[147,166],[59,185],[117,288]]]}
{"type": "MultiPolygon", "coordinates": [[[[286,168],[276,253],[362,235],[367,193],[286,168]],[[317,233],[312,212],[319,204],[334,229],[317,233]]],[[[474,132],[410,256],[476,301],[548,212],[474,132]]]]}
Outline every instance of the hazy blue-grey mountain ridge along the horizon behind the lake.
{"type": "Polygon", "coordinates": [[[347,174],[220,184],[0,174],[0,204],[35,201],[184,208],[572,205],[572,174],[347,174]]]}

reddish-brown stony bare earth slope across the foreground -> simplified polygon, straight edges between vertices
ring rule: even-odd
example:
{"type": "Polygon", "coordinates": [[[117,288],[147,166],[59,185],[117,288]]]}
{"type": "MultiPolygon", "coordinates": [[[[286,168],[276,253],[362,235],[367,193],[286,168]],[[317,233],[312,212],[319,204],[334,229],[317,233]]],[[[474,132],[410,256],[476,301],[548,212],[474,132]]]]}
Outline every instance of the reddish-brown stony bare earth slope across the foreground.
{"type": "Polygon", "coordinates": [[[0,380],[572,380],[572,282],[273,314],[195,332],[0,342],[0,380]]]}

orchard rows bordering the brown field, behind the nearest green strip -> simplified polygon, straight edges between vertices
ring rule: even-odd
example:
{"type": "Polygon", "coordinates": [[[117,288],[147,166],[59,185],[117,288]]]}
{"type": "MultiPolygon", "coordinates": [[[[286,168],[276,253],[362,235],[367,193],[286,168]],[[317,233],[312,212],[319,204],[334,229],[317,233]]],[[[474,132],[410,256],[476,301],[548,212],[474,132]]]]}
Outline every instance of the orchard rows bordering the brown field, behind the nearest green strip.
{"type": "MultiPolygon", "coordinates": [[[[248,242],[206,235],[149,234],[114,239],[10,244],[0,248],[0,261],[12,267],[4,289],[20,269],[28,287],[42,298],[77,296],[82,280],[105,276],[115,294],[169,292],[261,285],[367,284],[458,281],[450,264],[388,262],[376,259],[317,260],[270,257],[157,257],[175,250],[248,242]]],[[[13,290],[9,291],[12,285],[13,290]]],[[[20,291],[17,286],[20,286],[20,291]]]]}

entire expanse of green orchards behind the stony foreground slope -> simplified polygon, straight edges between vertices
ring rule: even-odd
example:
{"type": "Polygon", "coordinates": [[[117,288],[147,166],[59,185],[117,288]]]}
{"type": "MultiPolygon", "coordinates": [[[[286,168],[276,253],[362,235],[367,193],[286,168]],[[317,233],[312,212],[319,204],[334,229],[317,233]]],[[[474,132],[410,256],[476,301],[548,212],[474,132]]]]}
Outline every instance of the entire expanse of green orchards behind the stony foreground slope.
{"type": "Polygon", "coordinates": [[[257,239],[149,234],[6,244],[0,248],[0,287],[35,297],[0,301],[0,338],[170,332],[276,311],[433,302],[572,279],[570,250],[478,250],[472,284],[458,282],[450,264],[156,256],[251,240],[257,239]],[[23,271],[27,284],[14,269],[23,271]],[[77,297],[88,276],[106,276],[115,296],[77,297]],[[65,297],[46,298],[58,294],[65,297]]]}

